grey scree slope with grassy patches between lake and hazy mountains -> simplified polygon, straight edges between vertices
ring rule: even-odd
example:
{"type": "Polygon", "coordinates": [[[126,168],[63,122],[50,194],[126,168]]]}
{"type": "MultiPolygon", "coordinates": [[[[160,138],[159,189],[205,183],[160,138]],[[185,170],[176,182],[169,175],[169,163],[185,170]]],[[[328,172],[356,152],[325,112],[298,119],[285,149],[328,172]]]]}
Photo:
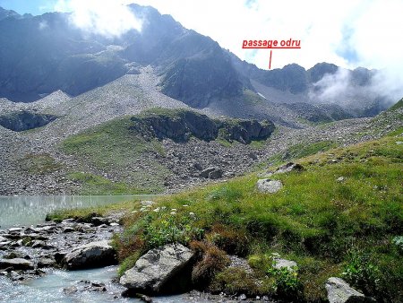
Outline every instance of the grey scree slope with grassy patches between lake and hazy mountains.
{"type": "MultiPolygon", "coordinates": [[[[133,85],[140,83],[143,78],[150,83],[147,73],[125,76],[113,85],[73,99],[56,93],[47,97],[47,100],[30,104],[3,100],[1,105],[4,112],[30,110],[58,118],[47,126],[24,132],[14,132],[0,126],[3,163],[0,168],[1,194],[87,194],[91,190],[95,190],[92,194],[176,191],[209,181],[206,177],[212,171],[216,171],[212,174],[213,178],[225,179],[242,174],[276,154],[283,152],[287,156],[289,148],[296,144],[300,144],[301,149],[318,142],[324,143],[324,148],[346,145],[379,137],[401,125],[401,108],[397,108],[373,119],[349,119],[321,126],[305,125],[302,129],[278,125],[277,131],[260,143],[244,144],[248,140],[239,143],[236,138],[230,143],[226,140],[226,132],[219,138],[211,137],[210,142],[196,136],[180,142],[167,135],[149,140],[147,135],[138,136],[131,133],[130,127],[126,127],[133,124],[133,120],[119,117],[133,116],[141,109],[155,106],[167,107],[167,104],[174,108],[185,107],[176,100],[159,98],[164,95],[152,85],[150,89],[144,85],[133,85]],[[104,93],[102,91],[111,88],[118,91],[123,86],[123,94],[115,95],[111,91],[109,99],[94,101],[98,100],[99,93],[104,93]],[[127,93],[128,87],[135,95],[133,92],[127,93]],[[92,113],[90,117],[88,113],[92,113]],[[103,121],[110,122],[102,124],[103,121]],[[66,147],[66,143],[70,145],[66,147]],[[202,173],[205,169],[208,171],[202,173]],[[103,186],[96,186],[99,184],[103,186]]],[[[211,115],[210,110],[205,112],[211,115]]],[[[200,129],[197,127],[198,131],[200,129]]],[[[227,139],[231,139],[230,136],[227,139]]]]}

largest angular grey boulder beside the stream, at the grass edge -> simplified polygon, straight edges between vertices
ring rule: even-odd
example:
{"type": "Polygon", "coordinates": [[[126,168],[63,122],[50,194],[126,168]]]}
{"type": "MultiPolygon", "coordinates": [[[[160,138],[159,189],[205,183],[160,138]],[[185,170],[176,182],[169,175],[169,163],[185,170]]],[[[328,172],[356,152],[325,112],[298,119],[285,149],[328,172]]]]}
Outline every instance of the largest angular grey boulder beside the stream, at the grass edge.
{"type": "Polygon", "coordinates": [[[120,278],[133,292],[175,293],[189,290],[194,252],[181,244],[151,249],[120,278]]]}

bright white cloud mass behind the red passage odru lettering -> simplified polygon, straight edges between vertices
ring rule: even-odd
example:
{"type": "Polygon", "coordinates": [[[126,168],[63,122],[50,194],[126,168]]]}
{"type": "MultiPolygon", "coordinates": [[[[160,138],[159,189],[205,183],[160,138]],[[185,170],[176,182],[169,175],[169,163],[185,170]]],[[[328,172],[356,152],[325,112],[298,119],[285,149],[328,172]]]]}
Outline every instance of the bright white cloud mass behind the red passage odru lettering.
{"type": "Polygon", "coordinates": [[[328,62],[382,69],[373,88],[403,96],[401,0],[138,0],[210,36],[241,59],[267,69],[270,51],[242,49],[243,39],[301,39],[301,49],[274,49],[271,68],[328,62]]]}

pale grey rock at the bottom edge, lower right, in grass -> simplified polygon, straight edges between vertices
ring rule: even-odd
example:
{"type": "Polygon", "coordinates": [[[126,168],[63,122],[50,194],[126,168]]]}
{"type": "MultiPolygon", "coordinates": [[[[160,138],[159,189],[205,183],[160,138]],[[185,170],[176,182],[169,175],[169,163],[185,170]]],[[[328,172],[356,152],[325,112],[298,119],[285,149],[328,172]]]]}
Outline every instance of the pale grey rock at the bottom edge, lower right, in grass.
{"type": "Polygon", "coordinates": [[[340,278],[331,277],[326,281],[326,290],[330,303],[353,303],[365,302],[365,297],[361,292],[351,288],[346,281],[340,278]]]}

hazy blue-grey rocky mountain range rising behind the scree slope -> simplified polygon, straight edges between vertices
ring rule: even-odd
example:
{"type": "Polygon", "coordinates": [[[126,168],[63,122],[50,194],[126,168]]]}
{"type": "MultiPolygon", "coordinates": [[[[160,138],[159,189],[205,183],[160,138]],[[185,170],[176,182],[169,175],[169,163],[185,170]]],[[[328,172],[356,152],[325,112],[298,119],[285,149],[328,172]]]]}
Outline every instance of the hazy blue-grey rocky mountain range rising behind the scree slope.
{"type": "Polygon", "coordinates": [[[373,116],[389,104],[371,91],[376,71],[327,63],[262,70],[150,6],[128,7],[145,22],[141,32],[118,38],[74,27],[69,13],[21,16],[1,9],[0,98],[31,102],[59,90],[75,97],[150,65],[159,77],[156,90],[218,115],[247,112],[287,124],[287,116],[303,113],[316,123],[373,116]],[[330,93],[336,82],[348,89],[330,93]]]}

